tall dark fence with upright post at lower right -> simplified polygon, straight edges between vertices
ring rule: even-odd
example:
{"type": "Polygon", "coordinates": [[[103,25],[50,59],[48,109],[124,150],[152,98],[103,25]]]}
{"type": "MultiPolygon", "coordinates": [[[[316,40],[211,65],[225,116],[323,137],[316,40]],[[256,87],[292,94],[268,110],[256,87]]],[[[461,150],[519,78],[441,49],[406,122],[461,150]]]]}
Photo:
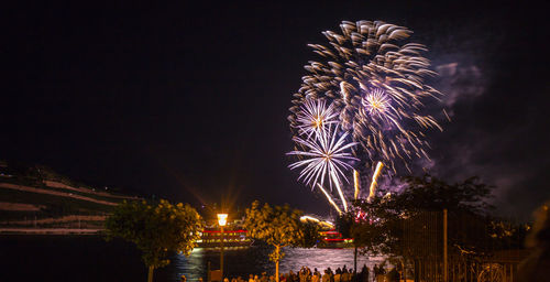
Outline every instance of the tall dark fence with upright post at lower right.
{"type": "Polygon", "coordinates": [[[403,249],[414,265],[414,280],[516,281],[526,250],[496,245],[487,224],[470,214],[453,213],[447,218],[446,212],[422,212],[404,220],[403,249]]]}

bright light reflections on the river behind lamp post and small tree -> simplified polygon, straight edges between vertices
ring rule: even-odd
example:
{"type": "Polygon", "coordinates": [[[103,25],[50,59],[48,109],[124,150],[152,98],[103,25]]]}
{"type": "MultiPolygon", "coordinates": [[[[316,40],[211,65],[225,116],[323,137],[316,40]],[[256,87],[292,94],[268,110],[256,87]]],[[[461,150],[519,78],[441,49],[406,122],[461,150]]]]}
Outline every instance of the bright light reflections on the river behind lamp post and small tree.
{"type": "MultiPolygon", "coordinates": [[[[267,272],[275,273],[275,264],[268,261],[271,249],[265,247],[250,247],[245,249],[226,249],[223,252],[224,274],[229,278],[241,275],[248,278],[249,274],[261,274],[267,272]]],[[[302,265],[309,267],[311,270],[317,268],[322,271],[327,268],[336,270],[346,265],[348,269],[353,268],[353,249],[284,249],[285,257],[279,265],[280,273],[287,273],[293,270],[298,271],[302,265]]],[[[382,257],[363,257],[358,256],[358,269],[366,264],[371,270],[375,263],[381,263],[384,260],[382,257]]],[[[202,276],[206,281],[208,262],[211,263],[211,269],[219,269],[220,250],[219,249],[201,249],[197,248],[189,257],[178,254],[173,258],[172,263],[167,267],[169,276],[175,281],[185,274],[188,281],[197,281],[202,276]]]]}

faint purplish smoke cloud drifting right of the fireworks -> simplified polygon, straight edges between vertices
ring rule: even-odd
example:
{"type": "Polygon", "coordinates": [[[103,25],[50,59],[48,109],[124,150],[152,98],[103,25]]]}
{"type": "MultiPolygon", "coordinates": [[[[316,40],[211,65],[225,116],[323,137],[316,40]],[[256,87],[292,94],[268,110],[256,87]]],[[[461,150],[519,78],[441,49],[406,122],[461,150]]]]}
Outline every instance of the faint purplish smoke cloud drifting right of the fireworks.
{"type": "MultiPolygon", "coordinates": [[[[499,112],[503,109],[496,105],[493,106],[496,108],[491,108],[486,101],[498,99],[498,96],[514,99],[509,93],[488,88],[495,69],[486,65],[452,62],[436,66],[436,70],[440,75],[438,89],[444,94],[442,104],[451,121],[443,122],[443,132],[433,133],[431,160],[417,160],[417,166],[449,182],[480,176],[483,183],[495,187],[491,202],[497,206],[499,214],[519,220],[529,219],[530,210],[544,197],[517,197],[525,195],[526,189],[535,188],[529,187],[528,183],[536,182],[535,177],[542,171],[542,167],[532,164],[535,167],[526,170],[526,162],[529,162],[527,155],[517,154],[518,151],[525,151],[520,139],[537,130],[512,124],[513,115],[526,115],[526,109],[509,112],[509,117],[503,118],[502,124],[491,128],[481,119],[491,111],[499,112]],[[481,108],[480,105],[490,108],[481,108]]],[[[442,116],[440,120],[443,120],[442,116]]],[[[546,195],[550,196],[548,192],[546,195]]]]}

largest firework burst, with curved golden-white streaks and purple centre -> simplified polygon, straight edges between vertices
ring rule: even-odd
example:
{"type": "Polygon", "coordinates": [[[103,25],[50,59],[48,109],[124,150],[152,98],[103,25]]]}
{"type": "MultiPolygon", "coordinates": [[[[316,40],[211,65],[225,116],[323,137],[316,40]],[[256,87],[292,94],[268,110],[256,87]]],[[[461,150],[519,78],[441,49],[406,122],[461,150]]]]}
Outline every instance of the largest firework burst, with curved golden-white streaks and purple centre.
{"type": "Polygon", "coordinates": [[[294,95],[290,128],[302,124],[310,99],[321,99],[338,112],[339,129],[361,143],[354,155],[369,158],[371,167],[382,161],[396,173],[396,160],[408,169],[413,158],[428,158],[425,131],[441,127],[425,105],[441,94],[425,84],[436,75],[422,56],[426,47],[405,42],[411,31],[382,21],[343,21],[340,29],[322,33],[328,45],[309,44],[321,59],[305,66],[309,74],[294,95]]]}

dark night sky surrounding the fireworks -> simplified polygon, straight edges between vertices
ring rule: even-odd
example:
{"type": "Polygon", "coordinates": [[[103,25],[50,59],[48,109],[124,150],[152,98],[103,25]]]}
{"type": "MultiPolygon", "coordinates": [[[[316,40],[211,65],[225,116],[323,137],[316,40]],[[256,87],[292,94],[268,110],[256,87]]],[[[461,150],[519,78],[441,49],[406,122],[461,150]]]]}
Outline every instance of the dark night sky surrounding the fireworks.
{"type": "Polygon", "coordinates": [[[0,159],[172,200],[257,198],[324,215],[287,169],[292,95],[322,31],[382,20],[413,30],[441,73],[452,122],[430,135],[431,172],[481,176],[520,218],[550,198],[539,3],[44,2],[2,9],[0,159]]]}

